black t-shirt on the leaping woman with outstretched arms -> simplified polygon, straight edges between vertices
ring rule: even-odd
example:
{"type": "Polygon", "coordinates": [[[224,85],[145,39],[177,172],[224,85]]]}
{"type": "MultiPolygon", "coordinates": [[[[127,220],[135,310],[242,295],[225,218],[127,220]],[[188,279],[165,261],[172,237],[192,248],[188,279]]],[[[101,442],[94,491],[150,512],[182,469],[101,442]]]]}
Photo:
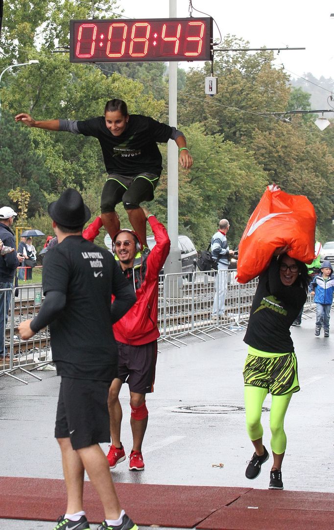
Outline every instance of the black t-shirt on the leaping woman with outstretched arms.
{"type": "Polygon", "coordinates": [[[105,125],[104,116],[77,122],[85,136],[94,136],[100,142],[108,174],[136,176],[139,173],[160,175],[162,157],[157,142],[167,143],[173,129],[148,116],[131,114],[127,128],[120,136],[113,136],[105,125]]]}

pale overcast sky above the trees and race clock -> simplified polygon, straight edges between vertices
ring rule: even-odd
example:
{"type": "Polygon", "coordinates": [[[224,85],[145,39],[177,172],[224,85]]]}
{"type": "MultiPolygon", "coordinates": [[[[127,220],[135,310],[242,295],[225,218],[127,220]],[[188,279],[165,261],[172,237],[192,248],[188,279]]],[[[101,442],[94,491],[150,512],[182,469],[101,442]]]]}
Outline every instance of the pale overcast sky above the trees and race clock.
{"type": "MultiPolygon", "coordinates": [[[[334,78],[334,0],[192,0],[193,7],[212,16],[224,37],[242,37],[251,48],[306,48],[281,51],[275,63],[292,77],[311,72],[334,78]]],[[[169,0],[119,0],[124,16],[169,16],[169,0]]],[[[188,0],[177,0],[177,16],[188,16],[188,0]]],[[[203,16],[193,10],[193,16],[203,16]]],[[[214,25],[214,40],[219,33],[214,25]]],[[[277,52],[276,52],[277,53],[277,52]]],[[[188,63],[180,63],[187,68],[188,63]]]]}

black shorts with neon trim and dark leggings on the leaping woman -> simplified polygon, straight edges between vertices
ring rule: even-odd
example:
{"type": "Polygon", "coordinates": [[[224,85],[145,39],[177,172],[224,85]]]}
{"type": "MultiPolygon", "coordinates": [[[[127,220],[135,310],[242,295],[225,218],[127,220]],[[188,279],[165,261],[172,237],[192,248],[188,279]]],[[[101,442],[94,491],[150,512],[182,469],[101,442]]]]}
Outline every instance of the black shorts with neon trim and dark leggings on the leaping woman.
{"type": "Polygon", "coordinates": [[[101,194],[102,214],[114,211],[120,202],[123,202],[125,209],[131,210],[139,208],[143,201],[154,199],[159,178],[152,173],[140,173],[134,177],[109,175],[101,194]]]}

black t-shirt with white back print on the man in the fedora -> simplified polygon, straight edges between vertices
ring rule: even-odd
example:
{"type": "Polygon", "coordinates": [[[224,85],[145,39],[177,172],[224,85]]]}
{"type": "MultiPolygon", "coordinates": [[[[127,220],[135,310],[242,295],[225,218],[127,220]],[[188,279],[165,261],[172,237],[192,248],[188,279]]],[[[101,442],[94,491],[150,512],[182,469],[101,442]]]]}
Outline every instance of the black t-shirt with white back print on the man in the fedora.
{"type": "Polygon", "coordinates": [[[112,331],[118,315],[111,296],[127,298],[129,293],[111,253],[82,236],[67,236],[46,253],[42,282],[44,294],[66,294],[64,310],[50,323],[58,374],[111,382],[118,360],[112,331]]]}

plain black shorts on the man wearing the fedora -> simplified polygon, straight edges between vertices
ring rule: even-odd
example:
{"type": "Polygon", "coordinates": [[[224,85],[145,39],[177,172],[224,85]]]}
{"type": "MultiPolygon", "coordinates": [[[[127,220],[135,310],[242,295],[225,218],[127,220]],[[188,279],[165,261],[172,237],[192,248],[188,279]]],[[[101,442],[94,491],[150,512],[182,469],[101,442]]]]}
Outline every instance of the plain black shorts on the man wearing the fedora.
{"type": "Polygon", "coordinates": [[[70,438],[73,449],[110,443],[105,381],[62,377],[56,416],[56,438],[70,438]]]}

